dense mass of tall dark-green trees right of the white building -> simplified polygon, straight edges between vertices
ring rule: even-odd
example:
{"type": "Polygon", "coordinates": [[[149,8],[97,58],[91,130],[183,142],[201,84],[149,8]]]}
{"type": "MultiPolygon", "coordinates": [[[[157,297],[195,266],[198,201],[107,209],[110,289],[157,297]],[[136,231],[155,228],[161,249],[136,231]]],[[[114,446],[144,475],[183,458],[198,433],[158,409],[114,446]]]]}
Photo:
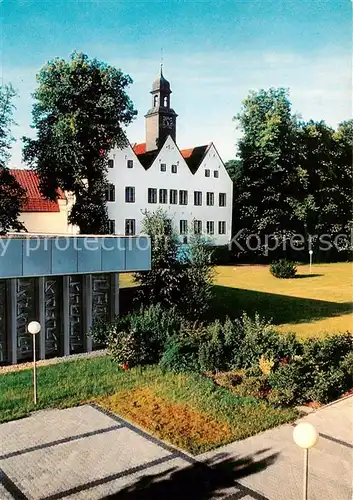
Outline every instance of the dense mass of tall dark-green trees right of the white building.
{"type": "Polygon", "coordinates": [[[241,231],[245,251],[253,248],[251,239],[245,244],[250,235],[260,243],[259,253],[268,254],[277,240],[282,246],[273,256],[290,258],[296,252],[283,241],[295,234],[303,236],[305,252],[322,235],[331,241],[348,235],[353,120],[336,131],[323,121],[301,122],[291,112],[288,91],[272,88],[250,92],[235,120],[243,135],[238,158],[226,166],[234,182],[233,231],[241,231]]]}

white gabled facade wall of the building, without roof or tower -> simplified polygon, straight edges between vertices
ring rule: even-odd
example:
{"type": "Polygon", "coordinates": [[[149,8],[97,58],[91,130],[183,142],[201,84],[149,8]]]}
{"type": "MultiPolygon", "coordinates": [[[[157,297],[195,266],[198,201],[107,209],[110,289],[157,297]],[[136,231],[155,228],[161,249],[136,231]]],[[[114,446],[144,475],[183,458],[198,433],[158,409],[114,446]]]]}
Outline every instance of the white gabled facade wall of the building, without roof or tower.
{"type": "MultiPolygon", "coordinates": [[[[143,212],[145,210],[155,211],[161,207],[170,215],[174,228],[179,234],[180,221],[187,221],[189,231],[194,230],[194,221],[201,221],[202,234],[207,235],[214,244],[226,245],[229,243],[231,240],[233,184],[212,143],[207,147],[195,173],[192,173],[170,136],[149,168],[142,166],[130,145],[122,150],[112,150],[110,158],[114,164],[113,167],[109,168],[108,180],[115,187],[115,201],[108,201],[107,206],[109,219],[114,221],[113,227],[115,227],[116,234],[126,234],[126,221],[128,220],[135,221],[133,224],[135,234],[139,234],[143,212]],[[128,160],[132,160],[132,168],[128,168],[128,160]],[[161,171],[161,164],[166,166],[165,171],[161,171]],[[172,172],[172,165],[176,165],[176,173],[172,172]],[[206,170],[209,171],[208,177],[206,177],[206,170]],[[217,177],[215,177],[214,172],[218,172],[217,177]],[[134,188],[133,202],[126,201],[127,187],[134,188]],[[157,203],[149,202],[149,188],[157,190],[157,203]],[[167,203],[160,203],[160,190],[167,190],[167,203]],[[176,204],[170,203],[171,190],[177,191],[176,204]],[[180,191],[188,193],[186,205],[180,204],[180,191]],[[199,206],[195,205],[195,191],[202,193],[201,205],[199,206]],[[212,202],[212,195],[207,196],[207,193],[213,193],[213,205],[207,204],[212,202]],[[225,206],[220,206],[220,194],[223,198],[222,202],[225,201],[225,206]],[[212,230],[212,223],[214,234],[207,234],[207,231],[212,230]]],[[[162,196],[163,194],[161,193],[162,196]]]]}

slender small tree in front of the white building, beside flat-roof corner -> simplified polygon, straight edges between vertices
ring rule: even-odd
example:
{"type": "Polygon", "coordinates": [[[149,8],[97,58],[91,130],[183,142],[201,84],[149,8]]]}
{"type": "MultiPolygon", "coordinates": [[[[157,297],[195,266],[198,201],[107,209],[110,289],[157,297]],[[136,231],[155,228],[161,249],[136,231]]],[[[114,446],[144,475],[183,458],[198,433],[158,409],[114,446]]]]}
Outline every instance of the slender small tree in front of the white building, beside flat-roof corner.
{"type": "Polygon", "coordinates": [[[212,297],[213,265],[206,243],[192,236],[185,251],[162,209],[145,212],[142,232],[151,238],[151,270],[134,275],[140,285],[138,299],[201,316],[212,297]]]}

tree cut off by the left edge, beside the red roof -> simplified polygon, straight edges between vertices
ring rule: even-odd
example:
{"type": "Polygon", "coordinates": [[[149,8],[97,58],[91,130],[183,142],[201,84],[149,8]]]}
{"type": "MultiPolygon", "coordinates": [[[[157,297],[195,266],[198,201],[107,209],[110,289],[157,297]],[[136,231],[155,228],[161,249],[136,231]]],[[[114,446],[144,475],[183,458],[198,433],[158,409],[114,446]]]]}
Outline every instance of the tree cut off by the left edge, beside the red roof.
{"type": "Polygon", "coordinates": [[[21,203],[25,191],[7,168],[11,143],[13,121],[13,98],[16,96],[11,85],[0,87],[0,234],[21,231],[25,227],[19,221],[21,203]]]}

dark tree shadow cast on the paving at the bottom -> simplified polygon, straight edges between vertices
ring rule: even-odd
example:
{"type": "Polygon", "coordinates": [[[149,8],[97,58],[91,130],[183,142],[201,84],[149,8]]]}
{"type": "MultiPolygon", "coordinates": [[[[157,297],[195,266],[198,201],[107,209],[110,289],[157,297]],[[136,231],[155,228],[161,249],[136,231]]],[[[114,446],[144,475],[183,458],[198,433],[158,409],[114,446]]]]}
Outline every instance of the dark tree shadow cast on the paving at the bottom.
{"type": "Polygon", "coordinates": [[[104,497],[102,500],[147,500],[150,498],[207,500],[216,498],[217,491],[232,487],[235,491],[242,491],[244,496],[253,493],[255,496],[251,498],[260,500],[261,495],[243,487],[236,481],[273,464],[278,453],[256,458],[256,456],[268,451],[267,449],[261,450],[254,456],[239,459],[234,459],[226,453],[219,453],[213,459],[195,462],[185,468],[171,467],[161,473],[145,475],[131,486],[104,497]]]}

